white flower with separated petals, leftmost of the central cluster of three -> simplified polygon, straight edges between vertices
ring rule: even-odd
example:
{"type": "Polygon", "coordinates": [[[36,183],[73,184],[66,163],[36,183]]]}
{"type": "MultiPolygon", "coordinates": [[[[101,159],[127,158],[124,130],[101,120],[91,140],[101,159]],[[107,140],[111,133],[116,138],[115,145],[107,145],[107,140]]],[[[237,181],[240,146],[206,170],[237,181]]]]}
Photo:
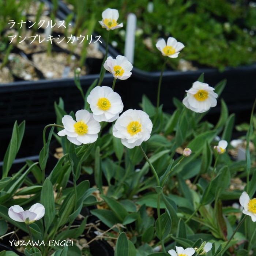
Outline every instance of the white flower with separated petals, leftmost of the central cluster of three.
{"type": "Polygon", "coordinates": [[[64,129],[59,131],[58,135],[67,135],[67,139],[78,146],[82,143],[95,142],[101,129],[99,122],[94,120],[93,114],[84,109],[76,112],[76,121],[73,120],[72,116],[64,116],[62,123],[64,129]]]}

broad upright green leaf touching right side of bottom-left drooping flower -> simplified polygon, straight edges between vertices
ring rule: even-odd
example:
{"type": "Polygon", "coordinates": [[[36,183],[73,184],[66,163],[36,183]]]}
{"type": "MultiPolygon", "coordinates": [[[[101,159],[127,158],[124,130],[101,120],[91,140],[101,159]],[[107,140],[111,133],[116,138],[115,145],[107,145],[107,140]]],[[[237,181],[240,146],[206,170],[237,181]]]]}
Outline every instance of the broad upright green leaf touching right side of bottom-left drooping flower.
{"type": "Polygon", "coordinates": [[[53,186],[49,178],[46,178],[41,192],[41,203],[45,207],[44,223],[45,233],[47,233],[50,225],[55,218],[55,203],[53,186]]]}

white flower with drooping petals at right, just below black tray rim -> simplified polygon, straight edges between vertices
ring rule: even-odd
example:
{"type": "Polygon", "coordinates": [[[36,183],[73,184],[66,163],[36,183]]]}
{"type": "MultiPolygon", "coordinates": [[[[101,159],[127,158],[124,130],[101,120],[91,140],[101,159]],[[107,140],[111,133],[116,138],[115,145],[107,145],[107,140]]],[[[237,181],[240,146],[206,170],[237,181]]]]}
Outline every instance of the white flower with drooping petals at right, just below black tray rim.
{"type": "Polygon", "coordinates": [[[214,88],[210,87],[207,83],[196,81],[193,83],[191,89],[187,92],[187,96],[183,99],[182,103],[194,112],[203,113],[217,105],[217,93],[214,93],[214,88]]]}

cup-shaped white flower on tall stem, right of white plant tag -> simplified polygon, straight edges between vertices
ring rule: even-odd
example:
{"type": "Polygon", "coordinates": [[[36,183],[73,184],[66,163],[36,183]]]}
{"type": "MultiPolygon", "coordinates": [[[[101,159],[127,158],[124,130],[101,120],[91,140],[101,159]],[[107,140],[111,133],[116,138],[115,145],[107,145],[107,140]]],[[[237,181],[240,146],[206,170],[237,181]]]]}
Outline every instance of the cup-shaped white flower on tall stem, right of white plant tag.
{"type": "Polygon", "coordinates": [[[180,51],[185,47],[184,44],[178,42],[173,37],[169,37],[167,39],[167,44],[162,38],[155,46],[157,46],[157,49],[163,54],[163,56],[168,56],[169,58],[177,58],[180,51]]]}

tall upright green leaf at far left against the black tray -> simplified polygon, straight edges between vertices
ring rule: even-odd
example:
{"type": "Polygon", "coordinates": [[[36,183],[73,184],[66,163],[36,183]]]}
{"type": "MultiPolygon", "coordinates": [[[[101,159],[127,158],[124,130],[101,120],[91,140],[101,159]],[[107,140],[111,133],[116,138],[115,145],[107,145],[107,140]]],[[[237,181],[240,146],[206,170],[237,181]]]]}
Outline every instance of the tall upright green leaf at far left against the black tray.
{"type": "Polygon", "coordinates": [[[11,169],[12,163],[19,151],[20,144],[23,139],[25,130],[25,121],[23,121],[20,125],[18,125],[17,121],[14,123],[14,127],[12,129],[12,137],[7,148],[7,151],[4,155],[3,161],[3,176],[5,178],[8,176],[8,172],[11,169]]]}

